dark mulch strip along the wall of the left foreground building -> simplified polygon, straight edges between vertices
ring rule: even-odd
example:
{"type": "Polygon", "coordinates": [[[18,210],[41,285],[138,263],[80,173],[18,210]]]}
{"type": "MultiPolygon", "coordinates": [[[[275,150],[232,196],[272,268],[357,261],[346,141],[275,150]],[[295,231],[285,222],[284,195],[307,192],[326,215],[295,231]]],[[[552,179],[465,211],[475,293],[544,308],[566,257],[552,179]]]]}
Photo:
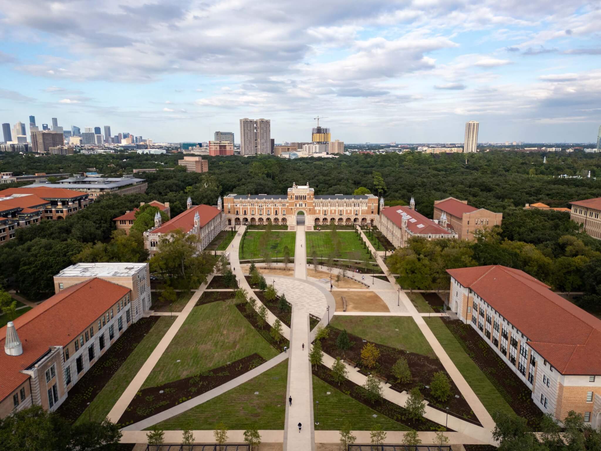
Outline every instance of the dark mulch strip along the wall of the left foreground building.
{"type": "Polygon", "coordinates": [[[69,396],[56,412],[64,419],[75,422],[158,320],[159,316],[149,316],[130,325],[69,390],[69,396]]]}

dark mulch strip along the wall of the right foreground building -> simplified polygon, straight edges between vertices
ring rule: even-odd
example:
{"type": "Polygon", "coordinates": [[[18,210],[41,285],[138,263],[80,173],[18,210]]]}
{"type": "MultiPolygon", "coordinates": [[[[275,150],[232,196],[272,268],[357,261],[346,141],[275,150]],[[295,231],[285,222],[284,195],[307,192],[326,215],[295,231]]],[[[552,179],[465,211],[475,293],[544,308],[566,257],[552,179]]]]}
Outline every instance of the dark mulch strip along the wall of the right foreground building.
{"type": "Polygon", "coordinates": [[[441,318],[469,357],[513,408],[515,413],[528,420],[528,425],[537,428],[543,417],[531,398],[531,391],[516,374],[501,360],[489,343],[478,335],[470,325],[458,319],[441,318]]]}

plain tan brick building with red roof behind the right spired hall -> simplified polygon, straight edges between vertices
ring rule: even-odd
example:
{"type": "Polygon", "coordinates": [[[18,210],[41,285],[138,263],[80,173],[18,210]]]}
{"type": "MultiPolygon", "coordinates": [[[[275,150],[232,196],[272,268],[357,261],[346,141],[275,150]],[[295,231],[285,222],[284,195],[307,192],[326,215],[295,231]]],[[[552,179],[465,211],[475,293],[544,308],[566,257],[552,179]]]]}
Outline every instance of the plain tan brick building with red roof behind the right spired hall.
{"type": "Polygon", "coordinates": [[[434,201],[434,219],[439,222],[446,216],[447,227],[457,233],[457,238],[474,241],[479,230],[501,225],[503,213],[493,213],[484,208],[468,205],[468,201],[447,197],[434,201]]]}

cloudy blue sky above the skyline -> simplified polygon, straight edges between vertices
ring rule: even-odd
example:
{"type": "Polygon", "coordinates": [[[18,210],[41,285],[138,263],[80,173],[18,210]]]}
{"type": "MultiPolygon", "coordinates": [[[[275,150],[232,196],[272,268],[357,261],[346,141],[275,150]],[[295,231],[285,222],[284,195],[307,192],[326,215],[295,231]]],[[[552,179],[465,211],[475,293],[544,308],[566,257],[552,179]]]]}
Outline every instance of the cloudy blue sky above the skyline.
{"type": "Polygon", "coordinates": [[[19,0],[0,9],[0,122],[208,141],[314,117],[346,143],[593,142],[601,2],[19,0]]]}

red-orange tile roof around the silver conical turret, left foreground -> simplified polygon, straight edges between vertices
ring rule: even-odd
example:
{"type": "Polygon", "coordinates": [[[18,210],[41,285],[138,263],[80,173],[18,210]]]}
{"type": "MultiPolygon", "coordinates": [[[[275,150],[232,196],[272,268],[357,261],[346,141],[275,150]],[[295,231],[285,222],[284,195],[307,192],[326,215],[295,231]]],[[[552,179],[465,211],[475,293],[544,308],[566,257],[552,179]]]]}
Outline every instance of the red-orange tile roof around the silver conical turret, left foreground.
{"type": "Polygon", "coordinates": [[[66,346],[129,292],[109,281],[93,278],[70,286],[16,318],[14,327],[23,354],[4,352],[6,329],[0,328],[0,400],[28,379],[21,373],[50,346],[66,346]]]}

